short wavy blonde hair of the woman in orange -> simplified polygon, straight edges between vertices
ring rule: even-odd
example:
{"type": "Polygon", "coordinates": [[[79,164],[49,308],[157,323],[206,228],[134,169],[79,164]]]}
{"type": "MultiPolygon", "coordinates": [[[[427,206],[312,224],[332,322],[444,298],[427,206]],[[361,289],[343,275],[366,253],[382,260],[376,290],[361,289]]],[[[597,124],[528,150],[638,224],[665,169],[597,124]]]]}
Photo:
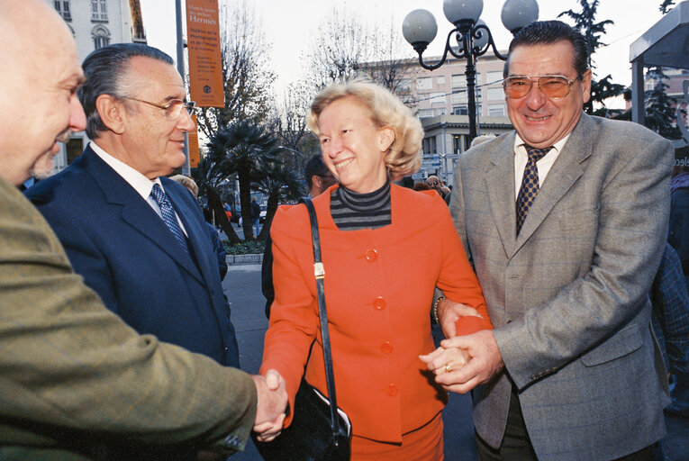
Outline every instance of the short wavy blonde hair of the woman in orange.
{"type": "Polygon", "coordinates": [[[422,124],[409,107],[383,86],[364,80],[326,86],[316,95],[306,117],[309,129],[318,136],[318,118],[328,104],[344,97],[354,97],[367,107],[371,120],[379,127],[394,131],[394,141],[385,154],[385,167],[393,180],[411,176],[422,164],[422,124]]]}

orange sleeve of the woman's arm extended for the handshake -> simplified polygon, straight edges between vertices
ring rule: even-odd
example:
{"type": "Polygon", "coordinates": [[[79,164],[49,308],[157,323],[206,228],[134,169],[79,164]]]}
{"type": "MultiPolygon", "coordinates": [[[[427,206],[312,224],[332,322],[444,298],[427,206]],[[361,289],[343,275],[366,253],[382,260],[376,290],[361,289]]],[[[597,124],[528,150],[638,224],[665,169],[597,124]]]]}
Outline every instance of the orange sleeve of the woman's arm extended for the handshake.
{"type": "MultiPolygon", "coordinates": [[[[270,226],[275,300],[270,308],[260,372],[265,375],[267,370],[276,369],[285,378],[290,408],[295,408],[295,394],[319,328],[315,278],[307,282],[304,276],[309,274],[305,272],[309,267],[313,270],[307,222],[304,206],[289,211],[280,208],[270,226]]],[[[291,415],[286,423],[290,421],[291,415]]]]}

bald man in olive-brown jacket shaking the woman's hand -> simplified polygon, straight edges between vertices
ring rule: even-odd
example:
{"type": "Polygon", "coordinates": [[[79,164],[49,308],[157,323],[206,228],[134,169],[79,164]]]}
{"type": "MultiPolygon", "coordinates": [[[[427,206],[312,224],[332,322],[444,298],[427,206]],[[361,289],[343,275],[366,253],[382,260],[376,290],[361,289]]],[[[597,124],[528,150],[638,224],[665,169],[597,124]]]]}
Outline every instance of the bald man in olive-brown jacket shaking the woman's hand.
{"type": "Polygon", "coordinates": [[[43,0],[0,0],[0,42],[0,98],[13,107],[0,113],[0,459],[241,449],[252,427],[284,418],[284,384],[138,334],[72,271],[17,186],[49,176],[59,142],[86,126],[77,46],[43,0]]]}

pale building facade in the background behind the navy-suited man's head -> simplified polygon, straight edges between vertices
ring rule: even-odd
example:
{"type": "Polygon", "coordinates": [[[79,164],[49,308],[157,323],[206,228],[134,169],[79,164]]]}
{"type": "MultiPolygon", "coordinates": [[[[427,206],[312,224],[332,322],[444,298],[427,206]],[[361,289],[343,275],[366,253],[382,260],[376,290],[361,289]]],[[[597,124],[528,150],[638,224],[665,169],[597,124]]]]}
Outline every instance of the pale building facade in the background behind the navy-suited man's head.
{"type": "MultiPolygon", "coordinates": [[[[77,41],[79,59],[110,43],[146,43],[139,0],[45,0],[62,16],[77,41]]],[[[88,139],[84,131],[60,147],[55,172],[81,155],[88,139]]]]}

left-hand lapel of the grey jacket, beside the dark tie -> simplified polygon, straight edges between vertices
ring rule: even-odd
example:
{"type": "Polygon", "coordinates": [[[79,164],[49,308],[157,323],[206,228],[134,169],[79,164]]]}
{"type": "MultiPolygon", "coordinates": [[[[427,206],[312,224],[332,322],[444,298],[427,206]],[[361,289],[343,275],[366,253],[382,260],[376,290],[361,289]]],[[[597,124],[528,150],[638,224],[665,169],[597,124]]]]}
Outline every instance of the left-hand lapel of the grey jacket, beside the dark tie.
{"type": "Polygon", "coordinates": [[[514,208],[514,134],[506,136],[502,146],[491,153],[490,169],[485,173],[493,220],[508,258],[512,256],[517,214],[514,208]]]}

